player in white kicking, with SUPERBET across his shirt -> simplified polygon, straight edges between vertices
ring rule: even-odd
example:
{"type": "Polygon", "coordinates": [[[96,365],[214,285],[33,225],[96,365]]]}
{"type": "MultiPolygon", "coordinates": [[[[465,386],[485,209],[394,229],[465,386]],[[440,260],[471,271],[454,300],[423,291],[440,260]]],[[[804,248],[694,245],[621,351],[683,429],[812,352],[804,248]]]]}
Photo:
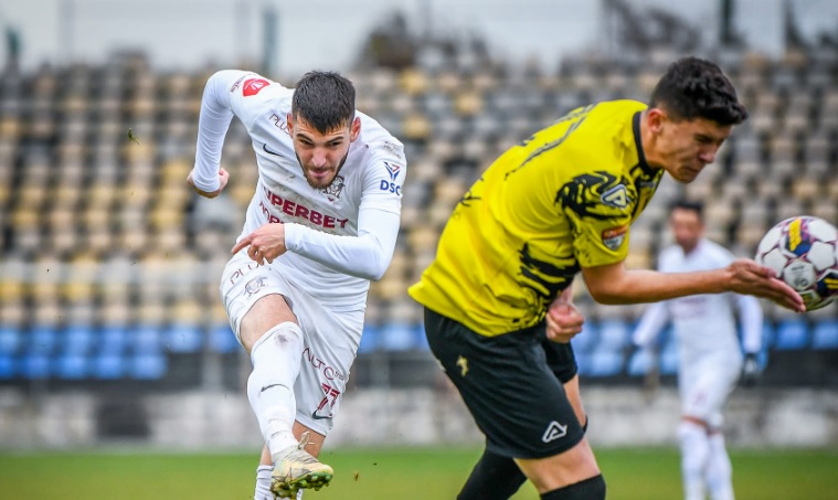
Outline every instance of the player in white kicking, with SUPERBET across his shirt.
{"type": "Polygon", "coordinates": [[[244,228],[221,278],[236,338],[250,353],[247,397],[265,440],[255,499],[291,498],[332,477],[318,456],[361,341],[370,280],[399,234],[402,143],[354,108],[352,83],[310,72],[295,88],[243,71],[206,82],[187,182],[221,193],[233,116],[258,167],[244,228]]]}

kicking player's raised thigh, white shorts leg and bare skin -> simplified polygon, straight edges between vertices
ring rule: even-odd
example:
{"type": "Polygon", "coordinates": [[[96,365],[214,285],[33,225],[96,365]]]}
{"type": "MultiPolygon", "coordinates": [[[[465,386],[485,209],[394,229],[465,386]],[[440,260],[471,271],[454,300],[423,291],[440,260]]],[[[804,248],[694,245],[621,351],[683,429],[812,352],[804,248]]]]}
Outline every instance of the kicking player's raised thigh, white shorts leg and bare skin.
{"type": "Polygon", "coordinates": [[[273,327],[297,322],[287,300],[288,283],[272,265],[259,266],[246,253],[240,252],[227,262],[220,291],[230,326],[247,352],[273,327]]]}

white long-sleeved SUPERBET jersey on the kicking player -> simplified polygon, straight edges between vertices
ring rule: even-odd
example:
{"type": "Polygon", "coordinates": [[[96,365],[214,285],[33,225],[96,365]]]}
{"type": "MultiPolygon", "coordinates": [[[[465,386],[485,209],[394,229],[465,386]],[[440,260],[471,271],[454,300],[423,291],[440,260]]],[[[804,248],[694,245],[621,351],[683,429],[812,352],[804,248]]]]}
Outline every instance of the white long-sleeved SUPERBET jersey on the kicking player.
{"type": "Polygon", "coordinates": [[[193,181],[203,191],[218,190],[221,148],[235,115],[250,134],[258,167],[238,238],[266,223],[285,223],[288,252],[274,260],[276,269],[332,309],[356,309],[367,301],[371,276],[380,277],[375,275],[392,258],[406,173],[404,148],[378,121],[357,111],[361,131],[338,175],[327,189],[311,188],[288,134],[293,95],[293,88],[255,73],[213,75],[202,100],[193,181]],[[395,217],[376,223],[382,212],[395,217]],[[375,242],[381,252],[367,252],[356,245],[360,238],[347,238],[359,236],[359,220],[360,233],[373,235],[365,241],[375,242]],[[371,266],[380,270],[363,270],[371,266]]]}

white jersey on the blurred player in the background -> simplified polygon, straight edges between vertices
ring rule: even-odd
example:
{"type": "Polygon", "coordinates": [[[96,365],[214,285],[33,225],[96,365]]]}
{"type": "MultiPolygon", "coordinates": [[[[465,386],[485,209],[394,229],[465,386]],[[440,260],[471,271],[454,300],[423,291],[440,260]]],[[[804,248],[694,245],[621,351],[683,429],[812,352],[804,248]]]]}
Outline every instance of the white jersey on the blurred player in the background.
{"type": "MultiPolygon", "coordinates": [[[[709,240],[685,254],[678,245],[661,252],[658,270],[690,273],[717,269],[734,260],[733,254],[709,240]]],[[[644,345],[671,319],[682,359],[713,352],[740,353],[734,307],[742,323],[746,352],[757,352],[762,343],[762,309],[756,298],[739,294],[692,295],[654,304],[635,331],[635,343],[644,345]]]]}

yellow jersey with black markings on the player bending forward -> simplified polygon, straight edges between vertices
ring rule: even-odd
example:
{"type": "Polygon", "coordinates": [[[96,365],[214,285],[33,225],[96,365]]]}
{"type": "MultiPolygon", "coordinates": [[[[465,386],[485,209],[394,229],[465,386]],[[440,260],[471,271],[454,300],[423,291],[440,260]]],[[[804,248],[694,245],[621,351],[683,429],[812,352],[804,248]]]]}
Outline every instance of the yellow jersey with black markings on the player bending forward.
{"type": "Polygon", "coordinates": [[[643,153],[645,108],[579,108],[507,150],[463,195],[410,295],[491,337],[541,321],[582,267],[624,260],[664,172],[643,153]]]}

